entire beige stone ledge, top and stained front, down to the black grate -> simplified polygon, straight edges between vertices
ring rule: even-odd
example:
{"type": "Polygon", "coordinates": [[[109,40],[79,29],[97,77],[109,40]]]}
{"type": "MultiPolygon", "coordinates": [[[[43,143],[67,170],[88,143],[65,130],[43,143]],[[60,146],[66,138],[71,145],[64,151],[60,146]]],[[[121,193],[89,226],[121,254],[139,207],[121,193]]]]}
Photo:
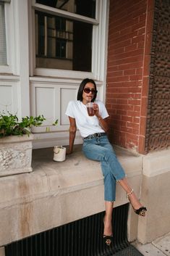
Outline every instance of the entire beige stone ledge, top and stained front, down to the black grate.
{"type": "MultiPolygon", "coordinates": [[[[64,162],[53,161],[53,148],[34,149],[32,173],[0,178],[0,246],[105,210],[100,163],[74,149],[64,162]]],[[[116,154],[140,197],[142,156],[116,154]]],[[[127,202],[118,185],[115,206],[127,202]]]]}

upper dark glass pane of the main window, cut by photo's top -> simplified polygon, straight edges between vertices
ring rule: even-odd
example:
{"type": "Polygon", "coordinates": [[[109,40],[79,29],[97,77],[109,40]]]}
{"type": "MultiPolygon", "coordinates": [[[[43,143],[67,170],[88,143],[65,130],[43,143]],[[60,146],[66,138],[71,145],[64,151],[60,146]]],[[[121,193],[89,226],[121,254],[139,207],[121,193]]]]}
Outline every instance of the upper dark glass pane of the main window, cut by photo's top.
{"type": "Polygon", "coordinates": [[[95,0],[37,0],[37,3],[95,18],[95,0]]]}

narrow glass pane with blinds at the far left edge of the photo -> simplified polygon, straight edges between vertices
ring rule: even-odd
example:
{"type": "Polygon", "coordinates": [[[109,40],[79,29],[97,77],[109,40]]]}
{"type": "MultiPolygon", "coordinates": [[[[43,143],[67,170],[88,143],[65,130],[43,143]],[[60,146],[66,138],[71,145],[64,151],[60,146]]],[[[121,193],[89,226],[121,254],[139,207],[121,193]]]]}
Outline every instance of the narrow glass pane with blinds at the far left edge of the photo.
{"type": "Polygon", "coordinates": [[[4,3],[0,1],[0,65],[7,65],[4,3]]]}

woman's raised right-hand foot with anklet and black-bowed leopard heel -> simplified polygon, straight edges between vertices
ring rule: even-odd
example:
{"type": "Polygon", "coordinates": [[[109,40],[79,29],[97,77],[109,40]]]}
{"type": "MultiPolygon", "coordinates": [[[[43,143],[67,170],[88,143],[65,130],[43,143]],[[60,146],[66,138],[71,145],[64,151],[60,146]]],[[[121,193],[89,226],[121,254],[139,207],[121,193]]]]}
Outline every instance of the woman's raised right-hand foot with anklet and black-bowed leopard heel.
{"type": "Polygon", "coordinates": [[[131,203],[133,210],[137,215],[145,217],[145,212],[147,211],[146,207],[143,207],[143,205],[140,204],[139,200],[137,199],[133,189],[129,193],[127,193],[127,198],[129,199],[129,202],[131,203]]]}

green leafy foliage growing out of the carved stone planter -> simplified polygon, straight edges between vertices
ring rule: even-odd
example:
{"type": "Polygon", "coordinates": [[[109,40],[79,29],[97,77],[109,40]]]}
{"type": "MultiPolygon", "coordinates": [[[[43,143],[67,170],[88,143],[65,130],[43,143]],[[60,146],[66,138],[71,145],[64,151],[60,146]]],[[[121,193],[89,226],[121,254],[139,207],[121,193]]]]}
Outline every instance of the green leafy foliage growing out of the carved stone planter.
{"type": "MultiPolygon", "coordinates": [[[[3,112],[0,114],[0,138],[12,135],[22,136],[24,134],[29,136],[31,126],[39,126],[44,120],[46,118],[43,115],[38,115],[38,117],[22,117],[22,120],[19,121],[17,115],[3,112]]],[[[55,123],[57,123],[57,120],[55,123]]]]}

